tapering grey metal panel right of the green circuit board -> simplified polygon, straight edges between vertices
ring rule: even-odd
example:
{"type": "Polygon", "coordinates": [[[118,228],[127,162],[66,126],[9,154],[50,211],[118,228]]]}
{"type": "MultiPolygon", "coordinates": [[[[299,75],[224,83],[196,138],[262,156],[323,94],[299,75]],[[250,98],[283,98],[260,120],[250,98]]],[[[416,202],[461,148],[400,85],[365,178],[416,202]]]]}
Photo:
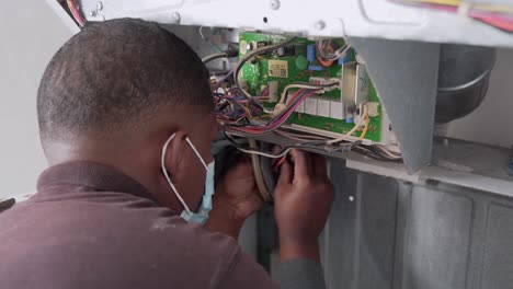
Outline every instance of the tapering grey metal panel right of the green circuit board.
{"type": "Polygon", "coordinates": [[[430,164],[440,45],[350,37],[390,118],[409,173],[430,164]]]}

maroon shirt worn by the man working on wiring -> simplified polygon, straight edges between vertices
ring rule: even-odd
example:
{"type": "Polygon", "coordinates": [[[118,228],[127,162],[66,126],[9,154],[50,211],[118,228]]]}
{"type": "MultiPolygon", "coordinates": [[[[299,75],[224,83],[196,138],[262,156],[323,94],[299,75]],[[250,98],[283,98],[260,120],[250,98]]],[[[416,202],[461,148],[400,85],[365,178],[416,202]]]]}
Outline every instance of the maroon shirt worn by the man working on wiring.
{"type": "Polygon", "coordinates": [[[37,189],[0,213],[1,288],[277,288],[232,238],[112,167],[53,166],[37,189]]]}

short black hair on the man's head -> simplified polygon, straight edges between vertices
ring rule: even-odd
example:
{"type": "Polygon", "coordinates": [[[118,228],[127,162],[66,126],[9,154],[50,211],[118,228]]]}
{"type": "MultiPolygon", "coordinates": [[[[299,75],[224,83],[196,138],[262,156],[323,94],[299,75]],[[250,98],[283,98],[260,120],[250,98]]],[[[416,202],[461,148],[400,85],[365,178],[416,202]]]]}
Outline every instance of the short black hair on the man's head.
{"type": "Polygon", "coordinates": [[[182,39],[156,23],[89,25],[53,57],[37,93],[42,139],[127,129],[162,107],[214,108],[209,74],[182,39]]]}

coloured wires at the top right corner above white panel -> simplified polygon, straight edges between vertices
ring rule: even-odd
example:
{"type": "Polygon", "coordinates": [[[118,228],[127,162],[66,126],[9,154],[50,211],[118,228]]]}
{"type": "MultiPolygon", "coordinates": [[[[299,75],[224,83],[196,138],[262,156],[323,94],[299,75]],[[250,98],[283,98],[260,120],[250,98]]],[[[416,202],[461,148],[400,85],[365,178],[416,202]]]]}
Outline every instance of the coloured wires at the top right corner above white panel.
{"type": "Polygon", "coordinates": [[[513,32],[513,5],[470,3],[461,0],[392,0],[418,7],[460,13],[497,28],[513,32]]]}

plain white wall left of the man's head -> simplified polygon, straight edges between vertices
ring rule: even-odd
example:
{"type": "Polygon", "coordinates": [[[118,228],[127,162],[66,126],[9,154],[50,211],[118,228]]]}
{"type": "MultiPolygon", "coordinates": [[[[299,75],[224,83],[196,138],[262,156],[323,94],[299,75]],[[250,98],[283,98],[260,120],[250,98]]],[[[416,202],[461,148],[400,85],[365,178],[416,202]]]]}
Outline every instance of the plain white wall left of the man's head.
{"type": "Polygon", "coordinates": [[[34,190],[46,166],[36,91],[47,61],[71,32],[44,0],[0,8],[0,198],[34,190]]]}

